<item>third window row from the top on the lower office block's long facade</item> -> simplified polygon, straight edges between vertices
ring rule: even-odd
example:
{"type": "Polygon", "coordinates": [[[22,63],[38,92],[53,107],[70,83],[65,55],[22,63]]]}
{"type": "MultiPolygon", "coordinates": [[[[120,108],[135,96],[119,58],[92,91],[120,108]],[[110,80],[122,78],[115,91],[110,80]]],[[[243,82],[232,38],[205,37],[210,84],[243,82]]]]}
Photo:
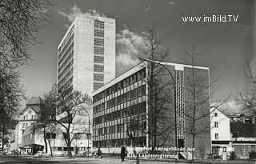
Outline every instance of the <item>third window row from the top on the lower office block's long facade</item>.
{"type": "Polygon", "coordinates": [[[111,122],[118,118],[125,118],[126,116],[132,116],[137,114],[146,113],[146,102],[141,102],[133,106],[128,106],[122,110],[117,110],[109,114],[102,115],[98,118],[94,118],[94,125],[98,125],[103,122],[111,122]]]}

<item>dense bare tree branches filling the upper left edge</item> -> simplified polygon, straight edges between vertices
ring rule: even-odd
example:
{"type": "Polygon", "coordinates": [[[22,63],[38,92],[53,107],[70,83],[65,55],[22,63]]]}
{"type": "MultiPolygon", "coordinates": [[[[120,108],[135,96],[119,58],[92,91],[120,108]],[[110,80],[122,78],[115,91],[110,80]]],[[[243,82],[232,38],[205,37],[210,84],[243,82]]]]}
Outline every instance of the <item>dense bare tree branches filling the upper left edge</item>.
{"type": "Polygon", "coordinates": [[[38,42],[35,34],[47,22],[49,5],[47,0],[0,1],[0,122],[4,132],[14,122],[12,116],[23,95],[15,69],[30,62],[30,45],[38,42]]]}

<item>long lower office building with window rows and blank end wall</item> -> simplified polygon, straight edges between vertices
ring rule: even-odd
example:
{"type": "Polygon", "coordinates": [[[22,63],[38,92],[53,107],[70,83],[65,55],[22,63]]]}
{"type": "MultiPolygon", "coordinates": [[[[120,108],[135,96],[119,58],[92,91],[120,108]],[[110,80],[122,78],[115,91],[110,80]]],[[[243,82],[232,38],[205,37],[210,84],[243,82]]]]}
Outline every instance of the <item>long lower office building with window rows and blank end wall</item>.
{"type": "MultiPolygon", "coordinates": [[[[192,135],[186,133],[189,131],[191,122],[187,117],[186,109],[190,107],[190,78],[192,73],[199,74],[205,79],[202,86],[206,86],[207,90],[199,95],[206,98],[204,106],[201,106],[202,111],[197,111],[200,114],[210,114],[210,88],[209,82],[209,67],[190,66],[184,64],[176,64],[165,62],[163,63],[174,76],[175,91],[176,91],[176,110],[174,106],[170,108],[168,114],[170,119],[161,120],[157,122],[157,128],[161,129],[158,122],[163,122],[165,127],[174,126],[173,129],[166,129],[168,142],[162,142],[162,136],[157,137],[156,146],[178,146],[178,147],[192,147],[192,135]],[[208,98],[208,99],[207,99],[208,98]]],[[[150,136],[150,129],[152,128],[152,114],[150,114],[149,92],[148,85],[148,62],[141,62],[132,69],[127,70],[114,80],[106,83],[104,86],[93,92],[94,111],[93,111],[93,146],[102,147],[105,153],[118,153],[119,147],[122,145],[136,146],[136,147],[152,147],[153,136],[150,136]],[[135,126],[134,130],[130,131],[131,125],[135,126]],[[139,127],[139,128],[136,128],[139,127]],[[132,138],[132,139],[131,139],[132,138]],[[111,149],[110,149],[111,148],[111,149]]],[[[164,77],[170,83],[173,81],[170,75],[164,77]]],[[[174,90],[170,90],[170,99],[174,100],[174,90]]],[[[163,106],[166,107],[166,106],[163,106]]],[[[198,115],[197,115],[198,116],[198,115]]],[[[200,117],[200,116],[198,116],[200,117]]],[[[203,125],[210,125],[210,115],[197,121],[197,127],[203,125]]],[[[210,153],[210,126],[202,127],[207,131],[204,134],[198,134],[195,139],[196,155],[199,158],[206,158],[206,154],[210,153]]]]}

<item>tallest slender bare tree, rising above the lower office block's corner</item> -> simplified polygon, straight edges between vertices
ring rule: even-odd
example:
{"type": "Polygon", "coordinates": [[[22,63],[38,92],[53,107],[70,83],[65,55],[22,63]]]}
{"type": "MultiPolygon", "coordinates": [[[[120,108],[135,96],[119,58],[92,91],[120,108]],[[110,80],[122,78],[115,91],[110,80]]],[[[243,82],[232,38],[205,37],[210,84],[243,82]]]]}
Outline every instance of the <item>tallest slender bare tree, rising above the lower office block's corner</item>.
{"type": "MultiPolygon", "coordinates": [[[[162,61],[170,54],[169,49],[162,45],[155,26],[146,27],[145,45],[146,58],[150,60],[162,61]]],[[[150,145],[153,147],[168,144],[167,141],[170,144],[170,134],[174,131],[174,124],[171,121],[173,117],[170,114],[170,104],[173,103],[171,93],[174,84],[169,79],[165,68],[152,62],[149,63],[146,82],[149,87],[147,96],[149,98],[148,122],[150,127],[147,133],[150,134],[150,145]]]]}

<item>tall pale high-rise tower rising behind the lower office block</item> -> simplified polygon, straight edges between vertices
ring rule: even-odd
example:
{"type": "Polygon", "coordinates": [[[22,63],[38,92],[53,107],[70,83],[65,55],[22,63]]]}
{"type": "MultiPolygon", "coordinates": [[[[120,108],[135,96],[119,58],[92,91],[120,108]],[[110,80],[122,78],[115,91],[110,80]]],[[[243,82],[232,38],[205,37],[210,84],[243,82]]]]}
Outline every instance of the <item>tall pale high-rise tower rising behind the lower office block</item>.
{"type": "Polygon", "coordinates": [[[58,45],[58,90],[91,95],[115,78],[115,19],[78,14],[58,45]]]}

